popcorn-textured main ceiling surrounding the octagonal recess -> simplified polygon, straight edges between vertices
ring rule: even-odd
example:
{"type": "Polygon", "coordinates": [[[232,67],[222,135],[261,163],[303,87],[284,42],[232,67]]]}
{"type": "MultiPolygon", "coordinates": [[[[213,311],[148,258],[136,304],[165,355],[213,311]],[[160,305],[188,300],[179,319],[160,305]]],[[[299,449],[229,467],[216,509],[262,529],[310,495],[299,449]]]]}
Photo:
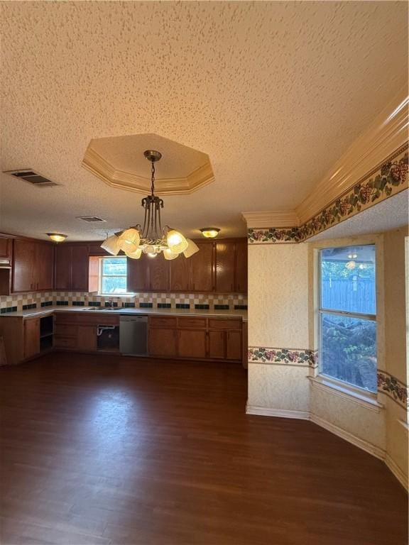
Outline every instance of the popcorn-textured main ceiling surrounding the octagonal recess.
{"type": "MultiPolygon", "coordinates": [[[[244,233],[294,209],[407,82],[405,2],[2,2],[0,229],[72,240],[135,224],[140,197],[81,167],[92,138],[155,133],[215,181],[164,219],[244,233]]],[[[143,145],[148,148],[149,143],[143,145]]],[[[197,231],[196,231],[197,233],[197,231]]]]}

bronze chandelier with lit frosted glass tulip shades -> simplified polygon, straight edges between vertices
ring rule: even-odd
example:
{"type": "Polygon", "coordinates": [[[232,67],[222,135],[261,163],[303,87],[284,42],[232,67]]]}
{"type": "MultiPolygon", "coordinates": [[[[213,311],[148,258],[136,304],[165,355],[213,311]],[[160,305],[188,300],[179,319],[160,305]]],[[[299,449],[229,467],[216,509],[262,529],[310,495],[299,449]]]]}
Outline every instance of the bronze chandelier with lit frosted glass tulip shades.
{"type": "Polygon", "coordinates": [[[142,253],[146,253],[150,258],[156,258],[158,254],[163,253],[163,257],[168,260],[175,259],[180,254],[190,258],[199,251],[196,244],[168,225],[162,227],[160,209],[163,208],[163,200],[155,194],[155,163],[160,160],[162,154],[156,150],[146,150],[143,155],[151,161],[151,194],[142,199],[142,207],[145,210],[143,226],[136,224],[109,236],[101,244],[101,248],[111,255],[118,255],[123,251],[131,259],[139,259],[142,253]]]}

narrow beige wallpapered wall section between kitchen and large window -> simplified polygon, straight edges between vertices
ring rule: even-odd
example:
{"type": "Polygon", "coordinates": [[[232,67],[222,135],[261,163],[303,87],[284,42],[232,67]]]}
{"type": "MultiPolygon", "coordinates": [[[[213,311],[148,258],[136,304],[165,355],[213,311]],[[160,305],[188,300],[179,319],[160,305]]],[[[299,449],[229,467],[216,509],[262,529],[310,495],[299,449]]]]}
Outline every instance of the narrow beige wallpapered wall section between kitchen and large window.
{"type": "MultiPolygon", "coordinates": [[[[308,348],[307,244],[249,246],[249,346],[308,348]]],[[[249,362],[248,407],[305,412],[308,369],[249,362]]]]}

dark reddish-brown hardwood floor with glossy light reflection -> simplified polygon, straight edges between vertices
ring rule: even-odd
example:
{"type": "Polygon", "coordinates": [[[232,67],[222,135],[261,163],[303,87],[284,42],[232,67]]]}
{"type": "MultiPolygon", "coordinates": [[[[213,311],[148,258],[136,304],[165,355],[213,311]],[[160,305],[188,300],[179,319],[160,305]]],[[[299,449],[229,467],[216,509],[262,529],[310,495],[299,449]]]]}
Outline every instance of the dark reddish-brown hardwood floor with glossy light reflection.
{"type": "Polygon", "coordinates": [[[1,544],[401,545],[386,466],[244,414],[246,372],[53,353],[1,380],[1,544]]]}

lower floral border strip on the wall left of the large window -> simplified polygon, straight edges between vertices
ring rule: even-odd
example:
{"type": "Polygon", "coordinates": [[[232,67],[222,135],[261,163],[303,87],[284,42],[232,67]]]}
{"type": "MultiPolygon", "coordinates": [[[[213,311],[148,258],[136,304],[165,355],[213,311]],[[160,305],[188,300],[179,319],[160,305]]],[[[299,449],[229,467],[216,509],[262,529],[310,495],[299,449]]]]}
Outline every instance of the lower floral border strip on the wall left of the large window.
{"type": "Polygon", "coordinates": [[[317,366],[317,352],[307,348],[265,348],[249,346],[249,362],[317,366]]]}

